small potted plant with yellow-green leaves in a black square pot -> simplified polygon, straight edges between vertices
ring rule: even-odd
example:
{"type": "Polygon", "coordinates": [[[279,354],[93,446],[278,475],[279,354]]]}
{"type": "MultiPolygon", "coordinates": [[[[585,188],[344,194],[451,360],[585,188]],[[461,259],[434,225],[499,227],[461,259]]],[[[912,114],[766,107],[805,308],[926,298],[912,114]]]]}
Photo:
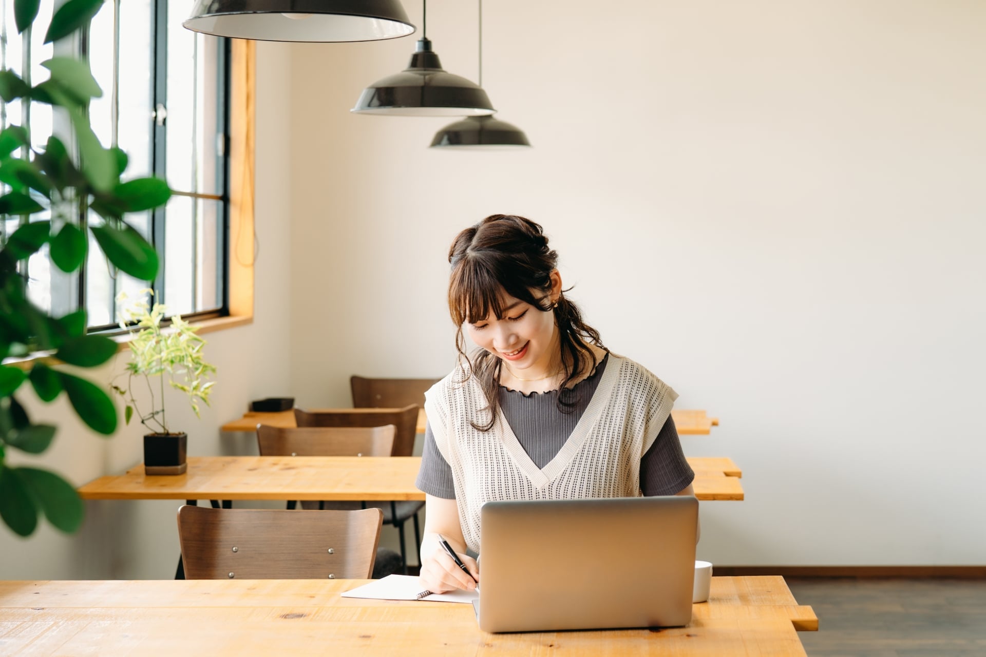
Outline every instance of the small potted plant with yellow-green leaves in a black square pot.
{"type": "MultiPolygon", "coordinates": [[[[150,304],[154,293],[141,290],[141,298],[117,311],[120,328],[129,330],[133,324],[138,331],[130,331],[130,361],[126,365],[126,386],[110,387],[126,402],[123,418],[126,424],[134,413],[144,427],[151,430],[144,435],[144,471],[148,475],[180,475],[187,470],[185,453],[188,437],[183,431],[173,431],[165,412],[165,378],[169,385],[188,396],[192,411],[199,417],[198,403],[209,405],[209,393],[215,381],[207,380],[216,368],[202,359],[205,340],[195,332],[196,327],[175,315],[170,328],[162,328],[161,321],[167,306],[150,304]],[[141,410],[133,394],[134,377],[143,377],[150,392],[150,406],[141,410]],[[160,378],[160,392],[155,395],[151,379],[160,378]]],[[[125,293],[117,296],[117,306],[129,299],[125,293]]]]}

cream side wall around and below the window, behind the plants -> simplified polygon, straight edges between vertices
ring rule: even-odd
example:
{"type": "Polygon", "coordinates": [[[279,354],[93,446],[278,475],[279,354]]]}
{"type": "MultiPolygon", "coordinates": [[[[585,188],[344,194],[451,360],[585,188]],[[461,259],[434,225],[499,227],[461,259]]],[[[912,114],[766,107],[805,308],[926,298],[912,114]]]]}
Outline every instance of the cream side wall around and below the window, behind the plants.
{"type": "MultiPolygon", "coordinates": [[[[291,310],[289,229],[291,198],[288,143],[290,50],[280,43],[257,45],[255,305],[252,324],[209,333],[207,361],[217,366],[212,408],[201,421],[179,395],[171,395],[169,417],[188,433],[190,455],[255,453],[248,435],[221,434],[219,427],[240,417],[251,399],[290,389],[287,317],[291,310]]],[[[249,245],[243,249],[248,258],[249,245]]],[[[128,352],[112,367],[85,370],[94,382],[108,382],[122,370],[128,352]]],[[[110,438],[99,436],[74,416],[64,395],[44,406],[28,392],[35,420],[59,427],[51,448],[31,458],[10,450],[12,463],[38,464],[76,485],[107,474],[120,474],[141,460],[139,424],[110,438]],[[31,403],[34,402],[34,403],[31,403]]],[[[122,422],[121,422],[122,425],[122,422]]],[[[175,576],[178,556],[177,501],[89,501],[80,532],[65,536],[42,521],[29,539],[0,528],[0,579],[153,579],[175,576]]]]}

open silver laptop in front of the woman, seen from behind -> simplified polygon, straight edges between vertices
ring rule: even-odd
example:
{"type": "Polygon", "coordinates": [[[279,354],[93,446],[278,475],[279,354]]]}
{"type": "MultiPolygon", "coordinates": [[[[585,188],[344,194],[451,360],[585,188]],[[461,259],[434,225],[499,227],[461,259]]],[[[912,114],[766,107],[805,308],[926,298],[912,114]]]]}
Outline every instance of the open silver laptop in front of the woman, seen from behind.
{"type": "Polygon", "coordinates": [[[481,513],[480,629],[691,621],[694,497],[496,501],[481,513]]]}

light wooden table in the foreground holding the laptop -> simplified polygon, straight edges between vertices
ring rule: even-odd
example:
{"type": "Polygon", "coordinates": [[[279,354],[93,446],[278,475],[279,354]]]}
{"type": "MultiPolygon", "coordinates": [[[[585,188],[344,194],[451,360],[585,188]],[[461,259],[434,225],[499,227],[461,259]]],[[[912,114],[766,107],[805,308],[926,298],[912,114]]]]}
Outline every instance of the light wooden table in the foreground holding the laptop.
{"type": "Polygon", "coordinates": [[[471,605],[340,598],[364,580],[0,581],[0,654],[805,655],[779,576],[713,577],[685,627],[490,634],[471,605]]]}

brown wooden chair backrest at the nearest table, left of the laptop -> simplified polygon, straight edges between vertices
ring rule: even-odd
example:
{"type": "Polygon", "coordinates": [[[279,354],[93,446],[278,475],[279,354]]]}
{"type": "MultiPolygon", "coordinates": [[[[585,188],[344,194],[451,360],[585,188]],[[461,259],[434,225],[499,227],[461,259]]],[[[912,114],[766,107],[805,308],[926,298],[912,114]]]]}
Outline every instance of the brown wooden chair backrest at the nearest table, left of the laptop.
{"type": "Polygon", "coordinates": [[[188,579],[368,579],[384,513],[178,508],[188,579]]]}

